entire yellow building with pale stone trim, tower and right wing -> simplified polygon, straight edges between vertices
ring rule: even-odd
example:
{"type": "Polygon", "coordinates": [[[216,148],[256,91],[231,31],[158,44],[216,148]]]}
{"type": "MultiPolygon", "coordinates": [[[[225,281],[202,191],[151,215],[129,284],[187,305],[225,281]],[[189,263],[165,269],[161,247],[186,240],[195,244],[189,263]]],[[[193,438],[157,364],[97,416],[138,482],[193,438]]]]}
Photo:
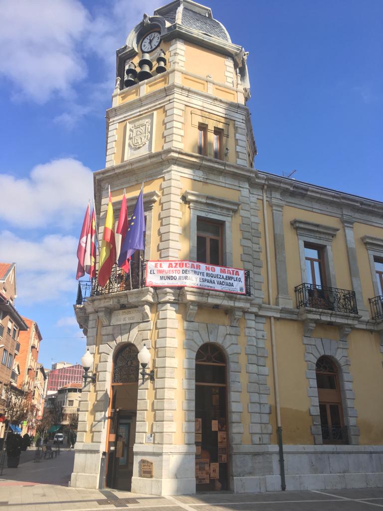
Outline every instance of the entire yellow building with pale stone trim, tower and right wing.
{"type": "MultiPolygon", "coordinates": [[[[123,489],[125,481],[124,489],[158,495],[357,487],[383,480],[376,468],[383,463],[383,318],[370,306],[376,297],[371,265],[379,247],[383,254],[383,205],[252,167],[246,53],[204,6],[184,0],[144,17],[117,52],[117,77],[107,111],[106,167],[94,174],[100,236],[108,186],[117,223],[124,189],[131,215],[143,183],[141,269],[145,259],[237,268],[245,272],[247,294],[146,287],[137,260],[132,284],[115,267],[109,287],[93,287],[75,306],[97,382],[82,392],[73,485],[123,489]],[[209,37],[198,28],[202,20],[209,37]],[[146,65],[140,45],[153,30],[160,42],[150,53],[152,76],[125,85],[129,64],[138,72],[146,65]],[[166,69],[157,76],[161,55],[166,69]],[[202,221],[219,225],[220,265],[201,255],[202,221]],[[321,254],[320,284],[306,266],[310,248],[321,254]],[[130,309],[133,319],[122,320],[130,309]],[[128,382],[112,382],[112,367],[132,344],[136,351],[148,347],[154,380],[139,376],[136,409],[116,411],[112,383],[128,382]],[[222,353],[221,362],[204,352],[210,349],[222,353]],[[201,366],[214,365],[211,360],[225,365],[218,383],[198,380],[210,378],[214,369],[204,376],[201,366]],[[323,388],[326,367],[332,383],[323,388]],[[210,391],[215,404],[206,401],[210,391]],[[210,421],[212,410],[220,416],[210,421]],[[216,420],[227,434],[220,461],[218,447],[206,439],[218,431],[216,420]],[[116,464],[122,458],[117,438],[128,423],[134,447],[123,472],[124,463],[116,464]],[[222,463],[219,484],[196,478],[202,454],[222,463]],[[150,480],[142,476],[143,460],[153,463],[150,480]],[[374,463],[373,475],[351,470],[366,460],[374,463]],[[89,463],[92,470],[84,468],[89,463]]],[[[381,301],[375,303],[379,312],[381,301]]]]}

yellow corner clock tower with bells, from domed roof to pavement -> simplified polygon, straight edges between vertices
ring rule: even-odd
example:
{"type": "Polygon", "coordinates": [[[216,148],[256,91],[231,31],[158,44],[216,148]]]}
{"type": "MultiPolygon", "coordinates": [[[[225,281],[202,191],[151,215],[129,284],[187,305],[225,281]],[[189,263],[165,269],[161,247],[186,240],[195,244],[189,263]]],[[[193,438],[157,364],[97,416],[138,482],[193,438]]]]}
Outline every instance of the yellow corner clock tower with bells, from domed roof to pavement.
{"type": "MultiPolygon", "coordinates": [[[[124,190],[130,217],[143,183],[142,268],[240,268],[248,293],[146,287],[134,261],[132,281],[116,267],[105,288],[92,285],[75,306],[97,379],[82,392],[72,486],[172,495],[241,484],[231,457],[241,455],[243,435],[238,325],[261,301],[247,248],[258,237],[249,225],[256,147],[246,59],[211,9],[191,0],[144,14],[117,50],[106,165],[94,173],[99,239],[108,187],[118,220],[124,190]],[[153,381],[138,381],[144,344],[153,381]]],[[[259,416],[259,425],[267,420],[259,416]]]]}

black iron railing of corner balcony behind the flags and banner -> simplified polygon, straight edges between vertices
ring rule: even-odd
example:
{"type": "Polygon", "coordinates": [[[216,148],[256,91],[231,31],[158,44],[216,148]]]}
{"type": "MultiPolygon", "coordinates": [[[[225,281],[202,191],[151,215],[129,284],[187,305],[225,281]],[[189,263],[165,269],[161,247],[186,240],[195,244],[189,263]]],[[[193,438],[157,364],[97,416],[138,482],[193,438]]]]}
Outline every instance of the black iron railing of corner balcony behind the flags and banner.
{"type": "MultiPolygon", "coordinates": [[[[112,268],[112,273],[105,287],[99,286],[97,275],[91,281],[79,281],[76,305],[84,303],[88,296],[100,296],[119,291],[131,291],[146,286],[146,262],[141,266],[135,261],[130,263],[130,275],[119,268],[116,264],[112,268]]],[[[250,271],[245,271],[246,295],[251,296],[250,290],[250,271]]],[[[171,286],[170,286],[171,287],[171,286]]]]}

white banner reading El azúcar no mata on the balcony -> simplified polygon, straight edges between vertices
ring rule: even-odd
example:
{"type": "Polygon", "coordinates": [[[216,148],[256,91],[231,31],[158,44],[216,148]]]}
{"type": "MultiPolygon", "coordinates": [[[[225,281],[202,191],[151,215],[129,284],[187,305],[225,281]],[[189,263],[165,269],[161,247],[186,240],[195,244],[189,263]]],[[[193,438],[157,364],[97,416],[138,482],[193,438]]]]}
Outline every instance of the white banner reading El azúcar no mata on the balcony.
{"type": "Polygon", "coordinates": [[[245,271],[195,261],[148,261],[147,287],[193,287],[246,294],[245,271]]]}

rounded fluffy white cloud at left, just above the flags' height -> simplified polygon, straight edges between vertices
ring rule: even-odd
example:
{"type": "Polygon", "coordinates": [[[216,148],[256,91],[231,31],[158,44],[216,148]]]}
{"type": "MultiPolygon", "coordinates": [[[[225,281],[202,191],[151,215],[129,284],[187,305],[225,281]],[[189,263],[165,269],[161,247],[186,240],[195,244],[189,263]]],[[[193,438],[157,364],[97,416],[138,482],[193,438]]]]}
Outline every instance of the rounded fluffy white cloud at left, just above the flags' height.
{"type": "Polygon", "coordinates": [[[0,219],[17,227],[70,227],[81,222],[93,196],[93,176],[81,161],[62,158],[37,165],[27,178],[0,174],[0,219]]]}

